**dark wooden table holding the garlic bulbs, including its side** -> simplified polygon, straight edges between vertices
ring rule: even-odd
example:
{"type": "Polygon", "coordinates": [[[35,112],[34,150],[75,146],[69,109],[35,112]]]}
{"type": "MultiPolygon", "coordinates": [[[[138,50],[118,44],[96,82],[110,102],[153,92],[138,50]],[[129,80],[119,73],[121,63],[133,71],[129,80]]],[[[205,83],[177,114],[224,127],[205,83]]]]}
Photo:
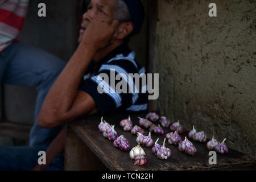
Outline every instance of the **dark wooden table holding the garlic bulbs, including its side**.
{"type": "MultiPolygon", "coordinates": [[[[138,116],[145,117],[146,114],[131,115],[134,125],[138,125],[138,116]]],[[[127,115],[109,115],[104,119],[111,125],[119,135],[124,135],[131,144],[131,148],[137,145],[136,136],[130,132],[123,131],[119,126],[122,119],[127,115]]],[[[190,140],[197,148],[197,153],[190,156],[180,152],[177,146],[166,146],[171,149],[172,155],[167,160],[157,159],[152,154],[151,148],[143,147],[147,156],[147,163],[144,166],[134,165],[129,157],[129,152],[123,152],[113,146],[113,142],[104,138],[98,130],[100,116],[87,117],[68,124],[67,139],[65,143],[65,169],[66,170],[255,170],[256,161],[241,152],[229,148],[228,154],[217,154],[217,164],[210,165],[209,150],[206,143],[199,143],[190,140]]],[[[146,134],[148,130],[144,129],[146,134]]],[[[159,138],[159,144],[163,143],[168,128],[164,129],[164,135],[151,134],[152,139],[159,138]]],[[[188,132],[181,135],[185,138],[188,132]]]]}

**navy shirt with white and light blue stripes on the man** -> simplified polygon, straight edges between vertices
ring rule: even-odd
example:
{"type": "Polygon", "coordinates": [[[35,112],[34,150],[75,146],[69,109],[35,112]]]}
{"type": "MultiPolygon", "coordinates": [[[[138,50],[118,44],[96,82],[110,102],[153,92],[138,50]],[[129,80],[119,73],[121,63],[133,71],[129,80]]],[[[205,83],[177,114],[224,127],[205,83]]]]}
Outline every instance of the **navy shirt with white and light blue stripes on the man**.
{"type": "Polygon", "coordinates": [[[131,51],[124,43],[98,61],[97,64],[94,61],[90,63],[79,90],[88,93],[93,98],[102,114],[117,111],[146,111],[148,105],[147,85],[142,85],[142,79],[139,80],[139,85],[138,82],[136,84],[135,79],[130,75],[135,73],[138,75],[144,73],[146,78],[146,70],[135,60],[135,52],[131,51]],[[109,80],[106,80],[105,77],[102,79],[102,75],[108,76],[109,80]],[[114,81],[110,81],[113,78],[114,81]],[[117,86],[127,92],[117,92],[115,90],[117,86]],[[98,87],[103,93],[99,92],[98,87]],[[131,92],[129,92],[130,88],[133,88],[131,92]]]}

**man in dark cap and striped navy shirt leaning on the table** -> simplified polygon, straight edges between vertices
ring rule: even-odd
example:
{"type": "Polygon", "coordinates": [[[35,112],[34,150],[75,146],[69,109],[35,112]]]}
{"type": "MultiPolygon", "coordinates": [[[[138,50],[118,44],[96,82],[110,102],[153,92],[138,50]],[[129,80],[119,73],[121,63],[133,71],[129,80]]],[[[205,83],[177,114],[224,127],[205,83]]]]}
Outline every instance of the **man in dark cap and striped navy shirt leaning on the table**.
{"type": "MultiPolygon", "coordinates": [[[[130,36],[139,32],[144,11],[138,0],[92,0],[82,16],[79,47],[49,90],[38,116],[44,128],[61,126],[75,118],[101,113],[147,110],[146,93],[119,93],[100,75],[110,78],[122,73],[144,73],[127,46],[130,36]],[[100,93],[98,85],[105,92],[100,93]],[[112,92],[109,92],[111,90],[112,92]]],[[[130,78],[129,78],[130,80],[130,78]]],[[[125,80],[127,81],[127,80],[125,80]]],[[[135,85],[133,79],[126,82],[135,85]]],[[[141,90],[140,88],[139,90],[141,90]]],[[[65,129],[46,151],[46,165],[63,151],[65,129]]]]}

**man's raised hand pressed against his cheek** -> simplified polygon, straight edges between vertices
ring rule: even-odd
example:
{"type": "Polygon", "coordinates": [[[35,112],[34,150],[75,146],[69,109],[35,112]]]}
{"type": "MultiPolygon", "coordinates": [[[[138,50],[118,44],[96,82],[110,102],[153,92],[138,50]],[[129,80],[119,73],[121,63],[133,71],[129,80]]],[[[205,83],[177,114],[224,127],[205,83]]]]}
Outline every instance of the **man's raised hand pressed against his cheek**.
{"type": "Polygon", "coordinates": [[[112,21],[92,19],[84,31],[81,43],[93,48],[95,51],[109,46],[118,26],[119,21],[116,19],[112,21]]]}

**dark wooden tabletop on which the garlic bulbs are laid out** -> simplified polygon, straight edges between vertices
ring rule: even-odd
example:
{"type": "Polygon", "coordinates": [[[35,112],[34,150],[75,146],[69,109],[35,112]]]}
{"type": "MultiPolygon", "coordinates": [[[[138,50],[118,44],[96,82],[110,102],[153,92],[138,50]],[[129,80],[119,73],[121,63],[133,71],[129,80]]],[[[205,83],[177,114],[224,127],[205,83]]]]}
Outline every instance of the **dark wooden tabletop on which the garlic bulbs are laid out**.
{"type": "MultiPolygon", "coordinates": [[[[131,115],[131,120],[134,125],[138,125],[138,116],[145,117],[146,114],[131,115]]],[[[124,135],[131,147],[137,145],[135,135],[127,131],[123,131],[122,127],[119,126],[119,122],[122,119],[127,118],[127,115],[112,115],[106,116],[104,119],[111,125],[115,125],[115,130],[119,135],[124,135]]],[[[171,149],[172,155],[167,160],[157,159],[151,152],[151,148],[143,147],[147,156],[147,164],[144,166],[134,165],[129,157],[129,152],[123,152],[113,146],[113,142],[104,138],[98,130],[98,124],[100,123],[100,116],[87,117],[80,121],[69,123],[69,127],[82,141],[96,154],[96,156],[111,170],[228,170],[228,169],[256,169],[255,160],[249,158],[249,156],[243,155],[241,152],[231,150],[229,148],[228,154],[220,155],[217,154],[217,165],[210,165],[209,150],[205,146],[206,143],[191,142],[197,148],[197,153],[194,156],[190,156],[180,152],[177,146],[171,146],[167,144],[167,147],[171,149]]],[[[148,130],[144,129],[146,134],[148,130]]],[[[169,129],[164,129],[164,135],[169,133],[169,129]]],[[[158,136],[152,134],[152,139],[159,138],[159,144],[162,144],[164,135],[158,136]]],[[[184,139],[188,135],[185,132],[181,137],[184,139]]]]}

